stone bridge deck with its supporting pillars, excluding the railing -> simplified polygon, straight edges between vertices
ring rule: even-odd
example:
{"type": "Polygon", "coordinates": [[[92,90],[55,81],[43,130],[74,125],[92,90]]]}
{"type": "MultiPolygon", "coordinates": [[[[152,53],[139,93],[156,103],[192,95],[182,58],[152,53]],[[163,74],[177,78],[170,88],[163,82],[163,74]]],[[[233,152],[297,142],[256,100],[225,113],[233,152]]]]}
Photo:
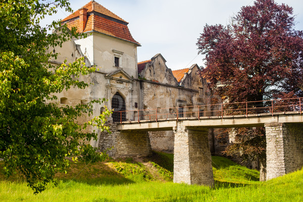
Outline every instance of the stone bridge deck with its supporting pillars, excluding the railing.
{"type": "Polygon", "coordinates": [[[208,143],[209,128],[256,127],[266,129],[267,180],[303,166],[303,116],[300,112],[277,112],[234,116],[141,120],[118,124],[117,156],[146,156],[150,153],[147,131],[173,130],[174,182],[213,185],[208,143]]]}

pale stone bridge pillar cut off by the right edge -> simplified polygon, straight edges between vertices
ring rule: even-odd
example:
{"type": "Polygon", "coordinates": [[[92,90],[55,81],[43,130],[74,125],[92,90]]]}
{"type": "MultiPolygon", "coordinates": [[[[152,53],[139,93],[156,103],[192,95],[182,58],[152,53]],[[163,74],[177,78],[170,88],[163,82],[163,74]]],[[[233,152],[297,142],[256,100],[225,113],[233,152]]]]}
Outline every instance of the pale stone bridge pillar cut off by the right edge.
{"type": "Polygon", "coordinates": [[[303,166],[303,124],[265,124],[266,180],[303,166]]]}

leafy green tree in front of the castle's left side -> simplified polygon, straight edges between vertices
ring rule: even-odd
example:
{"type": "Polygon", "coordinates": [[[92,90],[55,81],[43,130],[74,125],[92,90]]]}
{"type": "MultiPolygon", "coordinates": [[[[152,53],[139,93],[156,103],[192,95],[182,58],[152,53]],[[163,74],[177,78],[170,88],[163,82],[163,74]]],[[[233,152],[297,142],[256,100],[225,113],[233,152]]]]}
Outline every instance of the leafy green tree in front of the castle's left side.
{"type": "Polygon", "coordinates": [[[49,47],[61,46],[71,37],[60,21],[41,27],[45,16],[64,8],[71,12],[64,0],[0,0],[0,158],[5,173],[10,176],[19,170],[28,185],[38,193],[53,180],[57,172],[66,172],[68,158],[93,160],[102,154],[85,144],[96,133],[83,132],[89,125],[108,130],[105,121],[111,112],[93,118],[83,125],[77,118],[91,116],[92,106],[104,100],[92,100],[87,105],[60,107],[47,102],[55,93],[71,87],[85,88],[80,75],[89,75],[94,67],[86,67],[83,59],[72,64],[54,66],[48,63],[57,54],[49,47]],[[47,32],[60,29],[61,34],[47,32]],[[48,104],[49,103],[49,104],[48,104]]]}

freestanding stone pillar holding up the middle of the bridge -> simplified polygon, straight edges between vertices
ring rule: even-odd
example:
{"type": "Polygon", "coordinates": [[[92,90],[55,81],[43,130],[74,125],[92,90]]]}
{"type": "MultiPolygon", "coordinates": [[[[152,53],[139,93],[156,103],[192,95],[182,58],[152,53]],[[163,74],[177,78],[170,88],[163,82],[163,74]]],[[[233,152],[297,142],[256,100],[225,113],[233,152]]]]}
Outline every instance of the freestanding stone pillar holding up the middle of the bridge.
{"type": "Polygon", "coordinates": [[[208,129],[184,130],[183,122],[178,122],[174,143],[174,182],[214,185],[208,129]]]}

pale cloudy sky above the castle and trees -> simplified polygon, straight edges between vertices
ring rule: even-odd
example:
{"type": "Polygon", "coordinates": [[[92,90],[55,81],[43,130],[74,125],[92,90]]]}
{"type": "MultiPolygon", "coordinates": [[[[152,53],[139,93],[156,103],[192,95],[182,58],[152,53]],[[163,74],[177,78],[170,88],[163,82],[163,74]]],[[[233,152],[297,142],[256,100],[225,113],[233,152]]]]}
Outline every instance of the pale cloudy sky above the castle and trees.
{"type": "MultiPolygon", "coordinates": [[[[133,38],[141,46],[137,48],[138,62],[150,60],[160,53],[172,70],[189,68],[192,64],[204,66],[204,56],[198,55],[197,38],[206,24],[229,24],[230,18],[242,6],[254,4],[254,0],[95,0],[123,20],[133,38]]],[[[76,11],[90,0],[70,0],[76,11]]],[[[293,8],[295,29],[303,30],[303,1],[276,0],[293,8]]],[[[43,23],[63,19],[70,13],[59,10],[43,23]]]]}

